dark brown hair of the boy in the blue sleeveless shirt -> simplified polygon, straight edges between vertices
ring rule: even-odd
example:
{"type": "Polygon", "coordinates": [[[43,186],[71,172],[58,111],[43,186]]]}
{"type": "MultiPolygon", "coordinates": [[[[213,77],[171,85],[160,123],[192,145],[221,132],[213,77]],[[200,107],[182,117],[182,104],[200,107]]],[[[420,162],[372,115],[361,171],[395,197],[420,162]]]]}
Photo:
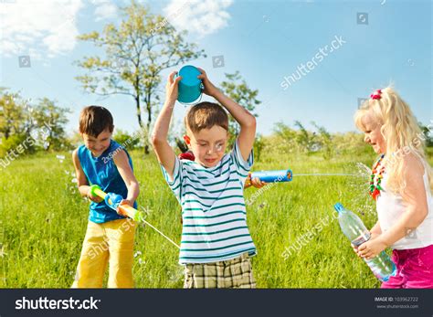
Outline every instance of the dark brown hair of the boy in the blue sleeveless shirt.
{"type": "Polygon", "coordinates": [[[100,132],[113,131],[114,125],[110,111],[101,106],[88,106],[79,113],[79,132],[98,137],[100,132]]]}

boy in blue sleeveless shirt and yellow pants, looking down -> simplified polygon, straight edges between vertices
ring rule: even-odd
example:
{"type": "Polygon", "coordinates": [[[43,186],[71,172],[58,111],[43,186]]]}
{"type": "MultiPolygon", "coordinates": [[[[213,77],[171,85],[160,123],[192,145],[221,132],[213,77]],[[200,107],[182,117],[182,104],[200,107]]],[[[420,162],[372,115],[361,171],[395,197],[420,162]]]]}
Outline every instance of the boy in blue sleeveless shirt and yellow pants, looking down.
{"type": "Polygon", "coordinates": [[[97,196],[90,185],[121,195],[121,205],[136,207],[140,189],[132,171],[132,159],[111,140],[114,129],[110,111],[100,106],[84,108],[79,115],[79,133],[84,145],[72,153],[79,194],[91,200],[90,216],[77,275],[72,288],[100,288],[107,263],[109,288],[132,288],[135,223],[122,217],[97,196]]]}

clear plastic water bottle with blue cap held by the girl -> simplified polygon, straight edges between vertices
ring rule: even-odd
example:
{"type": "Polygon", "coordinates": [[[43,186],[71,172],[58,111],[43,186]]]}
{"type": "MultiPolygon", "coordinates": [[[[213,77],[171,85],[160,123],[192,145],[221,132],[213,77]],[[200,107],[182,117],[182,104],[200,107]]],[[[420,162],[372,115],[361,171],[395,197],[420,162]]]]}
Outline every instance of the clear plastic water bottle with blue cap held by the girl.
{"type": "MultiPolygon", "coordinates": [[[[343,205],[338,203],[333,206],[338,212],[338,222],[346,236],[355,247],[359,247],[365,241],[370,239],[370,231],[364,226],[363,220],[357,217],[352,211],[344,209],[343,205]]],[[[364,259],[364,258],[363,258],[364,259]]],[[[388,257],[385,251],[380,252],[373,259],[364,259],[379,280],[389,280],[391,276],[396,275],[396,264],[388,257]]]]}

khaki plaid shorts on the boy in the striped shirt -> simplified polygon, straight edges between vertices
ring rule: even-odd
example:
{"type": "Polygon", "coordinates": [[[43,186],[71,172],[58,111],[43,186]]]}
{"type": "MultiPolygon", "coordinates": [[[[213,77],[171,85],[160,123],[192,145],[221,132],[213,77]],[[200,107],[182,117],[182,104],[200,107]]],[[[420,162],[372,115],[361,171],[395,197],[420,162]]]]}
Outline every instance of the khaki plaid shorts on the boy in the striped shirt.
{"type": "Polygon", "coordinates": [[[255,289],[248,253],[236,259],[185,265],[184,289],[255,289]]]}

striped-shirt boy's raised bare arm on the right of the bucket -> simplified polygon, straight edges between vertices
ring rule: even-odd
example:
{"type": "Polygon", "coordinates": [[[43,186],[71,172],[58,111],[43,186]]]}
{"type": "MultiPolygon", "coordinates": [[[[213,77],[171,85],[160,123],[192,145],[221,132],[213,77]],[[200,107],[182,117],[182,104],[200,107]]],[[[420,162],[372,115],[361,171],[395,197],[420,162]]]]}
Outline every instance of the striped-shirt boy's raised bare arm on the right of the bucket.
{"type": "Polygon", "coordinates": [[[205,85],[204,92],[207,95],[214,97],[219,103],[221,103],[221,105],[226,108],[233,118],[235,118],[235,120],[239,123],[239,150],[244,160],[247,161],[256,138],[256,118],[244,107],[240,106],[237,102],[231,100],[224,93],[218,90],[214,84],[207,79],[205,70],[199,70],[202,72],[202,74],[198,76],[198,78],[203,80],[205,85]]]}

